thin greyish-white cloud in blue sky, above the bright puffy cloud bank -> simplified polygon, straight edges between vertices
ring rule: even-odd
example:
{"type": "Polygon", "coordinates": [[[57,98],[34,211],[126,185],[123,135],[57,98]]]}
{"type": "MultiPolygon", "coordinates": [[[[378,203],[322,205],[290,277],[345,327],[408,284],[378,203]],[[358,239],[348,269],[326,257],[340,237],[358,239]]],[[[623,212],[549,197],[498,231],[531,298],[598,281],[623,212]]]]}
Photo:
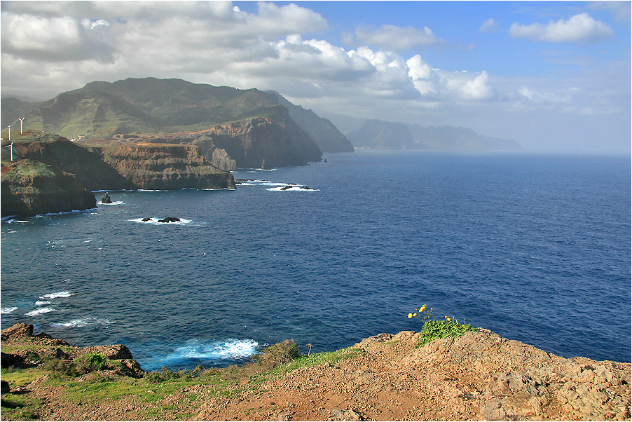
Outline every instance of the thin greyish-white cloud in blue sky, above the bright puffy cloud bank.
{"type": "Polygon", "coordinates": [[[402,51],[413,47],[432,46],[441,42],[434,36],[432,29],[423,27],[397,27],[382,25],[378,29],[360,26],[355,30],[359,41],[385,50],[402,51]]]}

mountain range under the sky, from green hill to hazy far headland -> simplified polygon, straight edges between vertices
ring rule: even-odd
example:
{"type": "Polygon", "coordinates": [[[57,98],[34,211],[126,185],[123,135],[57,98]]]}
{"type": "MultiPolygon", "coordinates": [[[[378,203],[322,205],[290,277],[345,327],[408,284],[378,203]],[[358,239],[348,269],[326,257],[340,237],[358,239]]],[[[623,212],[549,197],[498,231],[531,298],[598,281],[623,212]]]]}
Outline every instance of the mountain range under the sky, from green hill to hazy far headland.
{"type": "Polygon", "coordinates": [[[27,102],[11,97],[2,99],[3,128],[7,125],[15,128],[19,124],[17,119],[23,116],[25,128],[51,132],[69,139],[193,133],[227,123],[267,118],[282,128],[296,123],[322,152],[353,151],[353,147],[449,150],[520,148],[517,142],[486,137],[468,128],[423,127],[337,116],[336,121],[344,122],[341,124],[345,126],[345,136],[327,118],[292,104],[275,91],[263,92],[254,88],[240,90],[181,79],[125,79],[114,83],[94,81],[44,102],[27,102]]]}

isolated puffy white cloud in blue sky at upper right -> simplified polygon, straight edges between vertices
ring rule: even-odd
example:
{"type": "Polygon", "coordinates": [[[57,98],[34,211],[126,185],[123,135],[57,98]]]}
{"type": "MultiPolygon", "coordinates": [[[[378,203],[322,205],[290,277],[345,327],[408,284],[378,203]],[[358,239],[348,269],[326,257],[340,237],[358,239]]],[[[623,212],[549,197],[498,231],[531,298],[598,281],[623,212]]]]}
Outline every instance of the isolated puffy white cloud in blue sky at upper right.
{"type": "Polygon", "coordinates": [[[580,13],[568,20],[550,21],[547,25],[534,23],[519,25],[514,23],[509,28],[512,38],[526,38],[535,41],[551,41],[554,43],[598,41],[610,38],[614,30],[600,20],[594,20],[588,13],[580,13]]]}

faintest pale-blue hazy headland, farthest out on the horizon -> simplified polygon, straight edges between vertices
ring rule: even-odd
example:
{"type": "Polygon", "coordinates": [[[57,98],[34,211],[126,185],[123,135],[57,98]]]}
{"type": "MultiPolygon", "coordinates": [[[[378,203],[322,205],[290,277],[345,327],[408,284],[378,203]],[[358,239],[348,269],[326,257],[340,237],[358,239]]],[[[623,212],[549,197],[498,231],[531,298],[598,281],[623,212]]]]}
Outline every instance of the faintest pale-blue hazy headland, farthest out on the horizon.
{"type": "Polygon", "coordinates": [[[469,128],[453,126],[425,127],[406,123],[367,120],[362,128],[347,137],[357,148],[498,150],[521,149],[512,139],[480,135],[469,128]]]}

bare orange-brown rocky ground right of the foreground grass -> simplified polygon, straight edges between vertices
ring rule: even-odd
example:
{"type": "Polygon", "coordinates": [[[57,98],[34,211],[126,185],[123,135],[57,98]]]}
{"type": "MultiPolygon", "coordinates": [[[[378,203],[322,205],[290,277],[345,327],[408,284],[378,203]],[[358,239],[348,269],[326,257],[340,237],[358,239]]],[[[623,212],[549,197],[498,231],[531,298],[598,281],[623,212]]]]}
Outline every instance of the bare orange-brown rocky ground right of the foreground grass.
{"type": "Polygon", "coordinates": [[[350,358],[211,398],[195,420],[630,419],[629,363],[565,359],[486,330],[418,341],[415,332],[369,337],[345,349],[350,358]]]}

